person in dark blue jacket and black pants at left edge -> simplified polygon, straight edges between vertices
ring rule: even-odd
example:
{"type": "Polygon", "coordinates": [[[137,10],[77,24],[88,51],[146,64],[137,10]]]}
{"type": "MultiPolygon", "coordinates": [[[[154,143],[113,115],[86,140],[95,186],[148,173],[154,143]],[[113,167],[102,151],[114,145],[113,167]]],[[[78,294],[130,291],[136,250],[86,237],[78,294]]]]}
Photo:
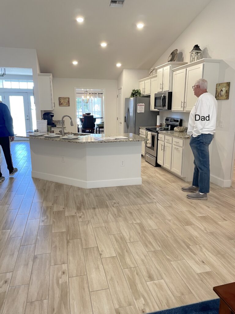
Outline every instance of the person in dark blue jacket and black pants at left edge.
{"type": "MultiPolygon", "coordinates": [[[[9,170],[9,176],[14,176],[18,171],[13,167],[11,158],[11,142],[14,140],[13,119],[8,106],[0,101],[0,146],[2,146],[3,154],[6,159],[7,168],[9,170]]],[[[0,168],[0,182],[5,180],[0,168]]]]}

